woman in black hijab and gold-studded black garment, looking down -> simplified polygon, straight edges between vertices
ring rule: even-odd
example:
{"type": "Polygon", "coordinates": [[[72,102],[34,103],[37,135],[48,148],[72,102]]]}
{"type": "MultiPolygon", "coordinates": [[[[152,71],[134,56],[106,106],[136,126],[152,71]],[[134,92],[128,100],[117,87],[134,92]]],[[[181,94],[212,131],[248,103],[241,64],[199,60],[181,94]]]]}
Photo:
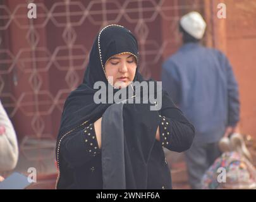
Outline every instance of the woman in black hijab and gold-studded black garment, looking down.
{"type": "MultiPolygon", "coordinates": [[[[138,96],[130,81],[155,83],[138,73],[138,59],[137,40],[130,30],[108,25],[97,35],[83,83],[64,104],[56,145],[57,189],[171,189],[162,146],[188,150],[192,124],[164,91],[160,110],[150,110],[149,102],[109,100],[112,92],[123,90],[128,100],[140,100],[145,95],[138,96]],[[94,100],[98,81],[108,86],[106,103],[94,100]],[[130,89],[132,95],[127,93],[130,89]]],[[[149,90],[147,96],[157,93],[149,90]]]]}

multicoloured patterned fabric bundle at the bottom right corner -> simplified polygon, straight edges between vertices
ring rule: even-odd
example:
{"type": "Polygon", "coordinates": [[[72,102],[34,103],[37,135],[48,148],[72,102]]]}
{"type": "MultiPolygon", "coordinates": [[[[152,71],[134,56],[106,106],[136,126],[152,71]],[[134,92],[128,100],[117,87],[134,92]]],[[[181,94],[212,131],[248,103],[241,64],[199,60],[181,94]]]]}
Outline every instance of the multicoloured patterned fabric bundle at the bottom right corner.
{"type": "Polygon", "coordinates": [[[205,172],[202,189],[256,189],[255,167],[239,153],[225,152],[205,172]]]}

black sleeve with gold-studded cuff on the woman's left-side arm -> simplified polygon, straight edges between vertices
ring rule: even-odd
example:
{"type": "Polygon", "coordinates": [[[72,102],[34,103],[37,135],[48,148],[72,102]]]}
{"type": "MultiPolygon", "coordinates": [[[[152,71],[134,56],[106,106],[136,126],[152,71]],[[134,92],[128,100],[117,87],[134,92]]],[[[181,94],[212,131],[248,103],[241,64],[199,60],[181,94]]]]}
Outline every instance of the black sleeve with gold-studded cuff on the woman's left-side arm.
{"type": "Polygon", "coordinates": [[[93,123],[76,133],[69,134],[61,141],[61,157],[71,167],[88,162],[100,152],[93,123]]]}

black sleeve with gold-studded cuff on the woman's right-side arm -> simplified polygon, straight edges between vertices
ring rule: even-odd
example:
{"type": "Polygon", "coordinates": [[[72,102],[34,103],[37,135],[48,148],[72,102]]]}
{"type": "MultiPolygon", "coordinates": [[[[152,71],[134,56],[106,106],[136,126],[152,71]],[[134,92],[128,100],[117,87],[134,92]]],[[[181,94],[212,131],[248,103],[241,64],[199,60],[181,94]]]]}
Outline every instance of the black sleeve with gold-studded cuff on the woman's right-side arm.
{"type": "Polygon", "coordinates": [[[182,152],[188,150],[195,136],[195,128],[183,116],[181,110],[174,105],[165,91],[162,95],[160,114],[159,132],[162,146],[171,151],[182,152]]]}

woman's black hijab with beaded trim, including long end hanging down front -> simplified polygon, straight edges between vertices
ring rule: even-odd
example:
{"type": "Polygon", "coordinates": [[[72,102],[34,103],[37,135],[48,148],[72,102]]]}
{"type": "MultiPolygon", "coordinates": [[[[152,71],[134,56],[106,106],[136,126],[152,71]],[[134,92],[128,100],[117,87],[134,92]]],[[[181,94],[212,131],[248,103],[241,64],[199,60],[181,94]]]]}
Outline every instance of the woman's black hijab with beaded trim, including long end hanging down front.
{"type": "MultiPolygon", "coordinates": [[[[142,75],[138,73],[138,44],[133,34],[120,25],[104,27],[92,45],[83,83],[70,93],[64,104],[56,147],[59,170],[62,165],[59,160],[59,146],[64,136],[95,122],[111,105],[95,104],[94,94],[97,90],[94,89],[94,84],[97,81],[108,84],[104,69],[107,59],[123,52],[132,54],[137,59],[137,69],[133,81],[144,81],[142,75]]],[[[128,88],[133,88],[133,86],[128,85],[121,90],[128,90],[128,88]]],[[[113,88],[114,93],[118,91],[113,88]]],[[[145,188],[147,186],[147,160],[149,160],[149,153],[155,141],[159,116],[157,111],[147,110],[145,113],[145,107],[148,106],[128,104],[123,109],[126,188],[145,188]],[[145,115],[143,119],[141,118],[142,114],[145,115]],[[134,127],[130,127],[131,125],[134,127]],[[140,128],[140,126],[143,127],[140,128]]]]}

